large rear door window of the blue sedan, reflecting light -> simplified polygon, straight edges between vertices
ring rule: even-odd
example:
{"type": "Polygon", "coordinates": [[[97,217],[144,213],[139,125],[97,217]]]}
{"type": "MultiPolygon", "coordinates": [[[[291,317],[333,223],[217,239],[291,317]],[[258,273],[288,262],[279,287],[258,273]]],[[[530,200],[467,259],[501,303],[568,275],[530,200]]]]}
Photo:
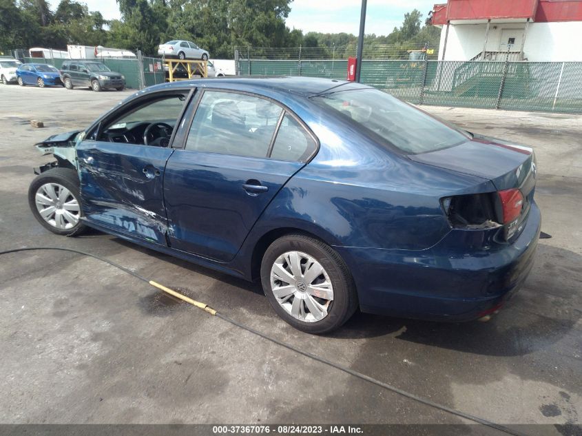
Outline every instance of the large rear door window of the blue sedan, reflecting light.
{"type": "Polygon", "coordinates": [[[186,149],[265,158],[281,114],[279,105],[264,98],[207,91],[196,110],[186,149]]]}

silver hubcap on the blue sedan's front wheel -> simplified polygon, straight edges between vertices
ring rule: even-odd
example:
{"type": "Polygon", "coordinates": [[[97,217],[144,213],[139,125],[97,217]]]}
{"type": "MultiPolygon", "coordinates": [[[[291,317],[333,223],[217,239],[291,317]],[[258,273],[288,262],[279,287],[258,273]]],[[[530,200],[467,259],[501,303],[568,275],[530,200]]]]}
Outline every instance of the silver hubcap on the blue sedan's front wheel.
{"type": "Polygon", "coordinates": [[[52,227],[72,229],[79,222],[79,202],[67,188],[58,183],[45,183],[34,198],[37,210],[52,227]]]}

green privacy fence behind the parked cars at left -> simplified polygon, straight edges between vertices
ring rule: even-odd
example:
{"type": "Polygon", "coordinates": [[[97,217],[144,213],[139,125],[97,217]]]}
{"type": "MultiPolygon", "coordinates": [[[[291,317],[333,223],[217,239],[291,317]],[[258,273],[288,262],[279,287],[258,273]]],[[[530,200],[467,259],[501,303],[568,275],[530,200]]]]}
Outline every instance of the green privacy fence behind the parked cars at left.
{"type": "MultiPolygon", "coordinates": [[[[61,68],[64,61],[68,59],[43,59],[24,58],[23,62],[47,63],[56,68],[61,68]]],[[[80,59],[81,61],[103,62],[110,70],[125,76],[125,86],[136,90],[147,86],[164,83],[165,72],[163,70],[162,59],[141,56],[138,53],[137,59],[80,59]]]]}

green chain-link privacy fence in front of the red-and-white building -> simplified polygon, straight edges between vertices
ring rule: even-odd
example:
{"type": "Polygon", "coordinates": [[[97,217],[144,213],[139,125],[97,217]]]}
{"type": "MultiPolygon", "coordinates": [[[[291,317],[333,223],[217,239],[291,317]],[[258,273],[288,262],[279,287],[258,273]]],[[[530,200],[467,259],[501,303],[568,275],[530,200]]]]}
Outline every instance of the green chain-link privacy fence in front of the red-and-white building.
{"type": "MultiPolygon", "coordinates": [[[[345,79],[347,61],[239,59],[238,72],[345,79]]],[[[361,81],[416,104],[582,113],[581,62],[364,59],[361,81]]]]}

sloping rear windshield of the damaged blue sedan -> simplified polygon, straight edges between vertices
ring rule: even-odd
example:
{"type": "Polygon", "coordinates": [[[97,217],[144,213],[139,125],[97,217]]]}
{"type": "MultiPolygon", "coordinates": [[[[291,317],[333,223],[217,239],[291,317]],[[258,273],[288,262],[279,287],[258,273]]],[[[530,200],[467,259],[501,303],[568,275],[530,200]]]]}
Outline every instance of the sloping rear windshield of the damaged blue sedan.
{"type": "Polygon", "coordinates": [[[359,125],[364,132],[380,136],[406,154],[434,152],[470,139],[469,134],[433,118],[422,110],[380,90],[360,88],[313,97],[359,125]]]}

